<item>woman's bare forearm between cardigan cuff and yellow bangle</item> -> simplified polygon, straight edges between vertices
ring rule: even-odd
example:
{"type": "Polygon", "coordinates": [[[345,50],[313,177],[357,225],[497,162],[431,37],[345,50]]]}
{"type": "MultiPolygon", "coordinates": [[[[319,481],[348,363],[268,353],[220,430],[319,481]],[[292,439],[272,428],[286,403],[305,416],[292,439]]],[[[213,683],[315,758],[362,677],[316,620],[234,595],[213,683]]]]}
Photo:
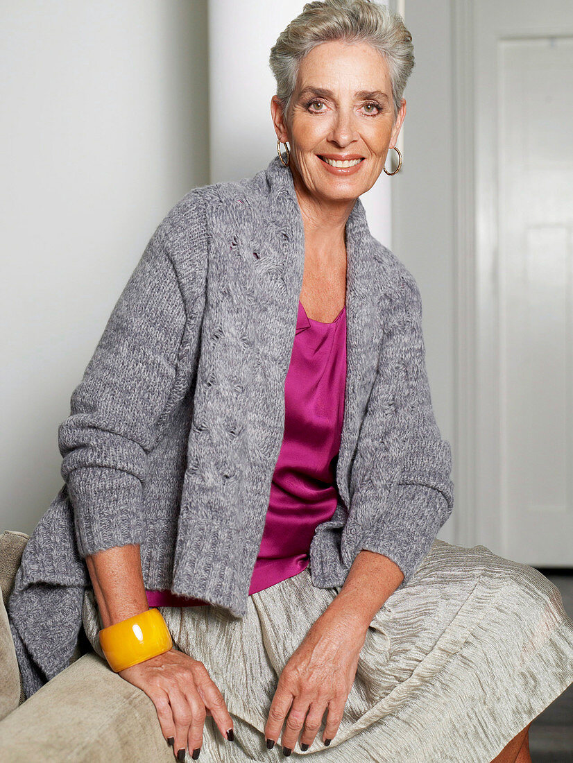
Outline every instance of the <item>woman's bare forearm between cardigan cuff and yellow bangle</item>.
{"type": "Polygon", "coordinates": [[[140,546],[114,546],[85,557],[104,628],[148,610],[140,546]]]}

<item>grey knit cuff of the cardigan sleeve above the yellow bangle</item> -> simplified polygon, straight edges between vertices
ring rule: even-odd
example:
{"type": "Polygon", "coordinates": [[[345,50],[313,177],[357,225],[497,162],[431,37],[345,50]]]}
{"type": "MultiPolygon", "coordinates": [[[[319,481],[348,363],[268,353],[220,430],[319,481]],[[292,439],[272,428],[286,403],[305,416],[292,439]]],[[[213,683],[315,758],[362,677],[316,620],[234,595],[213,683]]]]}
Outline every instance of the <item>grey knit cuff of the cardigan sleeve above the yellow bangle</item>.
{"type": "Polygon", "coordinates": [[[120,469],[85,466],[74,469],[66,484],[82,558],[112,546],[143,543],[140,479],[120,469]]]}

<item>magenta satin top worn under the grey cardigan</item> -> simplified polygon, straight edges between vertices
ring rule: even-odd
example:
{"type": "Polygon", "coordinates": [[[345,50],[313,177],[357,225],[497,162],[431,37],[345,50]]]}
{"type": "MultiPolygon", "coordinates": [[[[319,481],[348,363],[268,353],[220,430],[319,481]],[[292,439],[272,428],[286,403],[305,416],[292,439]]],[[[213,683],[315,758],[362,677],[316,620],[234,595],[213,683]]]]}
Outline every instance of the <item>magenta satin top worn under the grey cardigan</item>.
{"type": "MultiPolygon", "coordinates": [[[[324,324],[307,317],[299,300],[285,379],[285,433],[249,595],[304,570],[314,530],[336,509],[345,386],[346,307],[332,323],[324,324]]],[[[171,591],[146,594],[150,607],[208,604],[171,591]]]]}

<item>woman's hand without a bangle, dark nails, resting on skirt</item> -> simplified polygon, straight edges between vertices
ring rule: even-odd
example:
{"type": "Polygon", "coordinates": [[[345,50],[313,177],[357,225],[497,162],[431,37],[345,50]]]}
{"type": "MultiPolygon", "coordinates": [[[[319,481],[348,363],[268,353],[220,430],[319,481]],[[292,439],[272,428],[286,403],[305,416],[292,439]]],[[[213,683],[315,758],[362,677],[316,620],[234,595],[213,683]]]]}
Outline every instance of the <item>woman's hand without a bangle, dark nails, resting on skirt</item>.
{"type": "MultiPolygon", "coordinates": [[[[282,734],[285,755],[290,755],[295,749],[303,726],[301,749],[310,747],[327,709],[323,742],[330,745],[340,726],[354,683],[366,633],[368,628],[364,628],[356,618],[326,610],[285,665],[278,678],[265,726],[266,739],[274,744],[288,713],[282,734]]],[[[269,744],[267,742],[267,746],[269,744]]]]}

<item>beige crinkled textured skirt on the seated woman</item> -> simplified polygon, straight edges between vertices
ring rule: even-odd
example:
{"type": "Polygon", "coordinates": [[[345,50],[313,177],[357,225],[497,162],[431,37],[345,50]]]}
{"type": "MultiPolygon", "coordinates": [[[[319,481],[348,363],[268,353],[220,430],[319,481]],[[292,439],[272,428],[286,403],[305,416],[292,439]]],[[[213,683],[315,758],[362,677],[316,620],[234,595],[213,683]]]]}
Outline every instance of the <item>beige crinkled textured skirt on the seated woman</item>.
{"type": "MultiPolygon", "coordinates": [[[[269,750],[264,731],[278,676],[339,591],[315,588],[305,569],[252,594],[243,618],[221,607],[159,607],[175,646],[204,662],[233,716],[233,743],[207,716],[203,763],[285,759],[281,738],[269,750]]],[[[91,589],[83,624],[103,658],[91,589]]],[[[485,546],[436,539],[372,620],[330,746],[321,726],[291,760],[488,763],[571,683],[573,620],[559,589],[485,546]]]]}

